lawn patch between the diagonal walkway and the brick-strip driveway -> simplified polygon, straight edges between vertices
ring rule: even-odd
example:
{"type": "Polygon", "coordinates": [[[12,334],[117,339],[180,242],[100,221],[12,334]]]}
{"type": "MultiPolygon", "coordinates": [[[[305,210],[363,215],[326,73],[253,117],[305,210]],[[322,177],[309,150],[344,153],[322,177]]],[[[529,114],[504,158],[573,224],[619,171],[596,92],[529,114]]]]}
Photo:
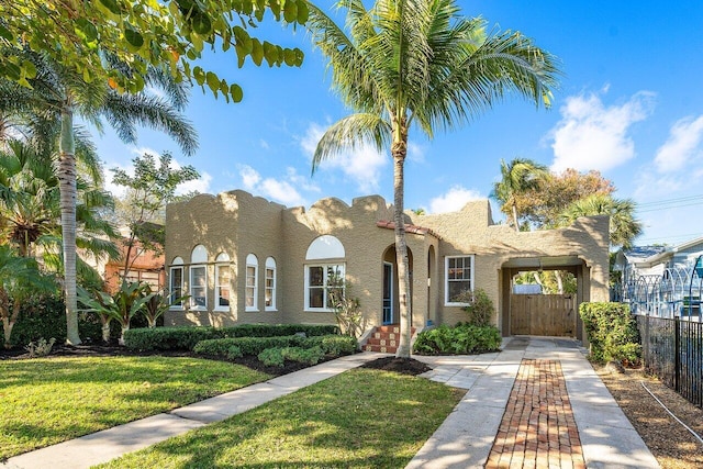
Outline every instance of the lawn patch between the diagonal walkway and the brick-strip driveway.
{"type": "Polygon", "coordinates": [[[355,369],[100,467],[404,467],[464,392],[355,369]]]}

